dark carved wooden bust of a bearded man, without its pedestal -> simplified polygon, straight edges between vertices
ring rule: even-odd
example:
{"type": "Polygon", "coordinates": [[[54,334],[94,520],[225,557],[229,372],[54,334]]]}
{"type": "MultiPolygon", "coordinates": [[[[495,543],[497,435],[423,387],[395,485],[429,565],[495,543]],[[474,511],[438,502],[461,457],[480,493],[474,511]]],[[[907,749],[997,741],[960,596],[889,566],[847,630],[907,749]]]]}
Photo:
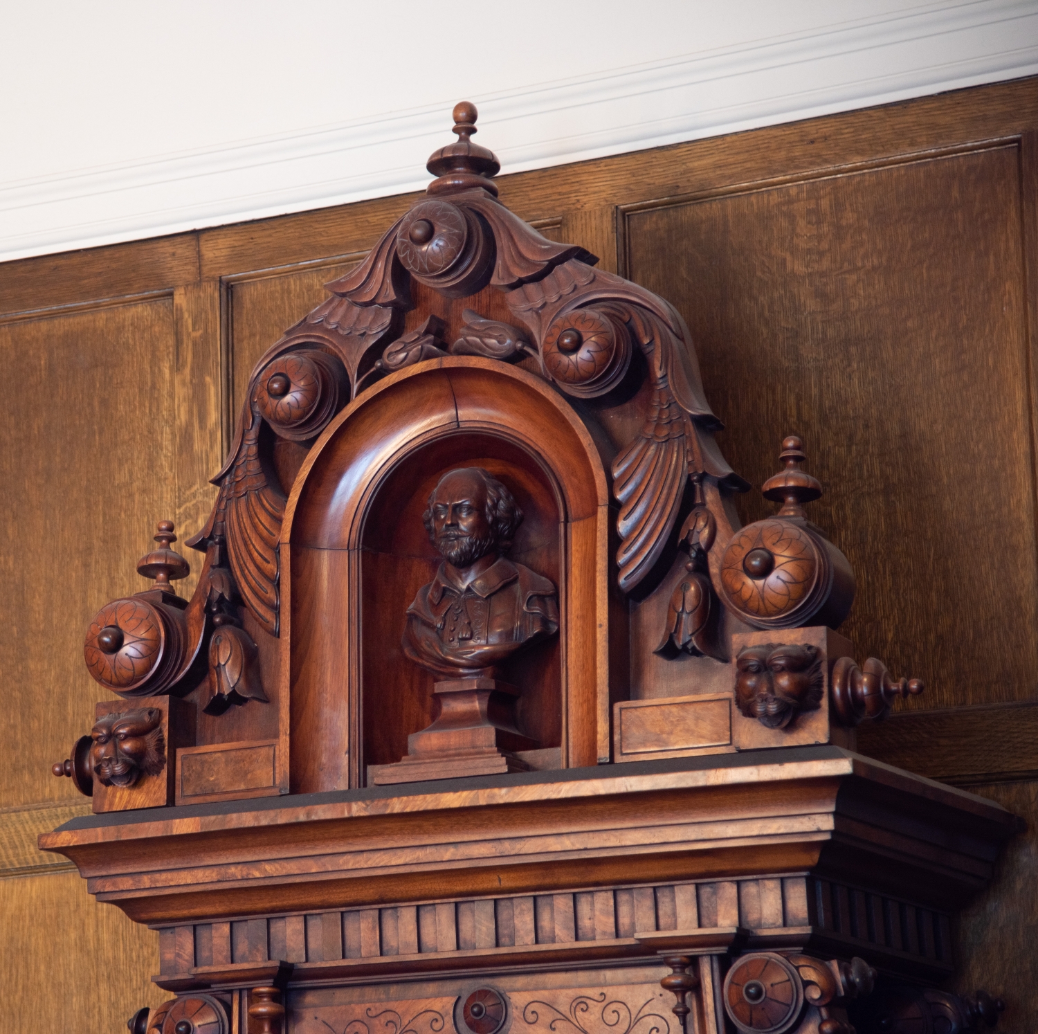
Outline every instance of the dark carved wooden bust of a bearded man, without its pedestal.
{"type": "Polygon", "coordinates": [[[440,679],[496,677],[521,647],[558,631],[554,584],[504,556],[522,511],[482,467],[444,474],[422,515],[443,563],[407,608],[404,654],[440,679]]]}

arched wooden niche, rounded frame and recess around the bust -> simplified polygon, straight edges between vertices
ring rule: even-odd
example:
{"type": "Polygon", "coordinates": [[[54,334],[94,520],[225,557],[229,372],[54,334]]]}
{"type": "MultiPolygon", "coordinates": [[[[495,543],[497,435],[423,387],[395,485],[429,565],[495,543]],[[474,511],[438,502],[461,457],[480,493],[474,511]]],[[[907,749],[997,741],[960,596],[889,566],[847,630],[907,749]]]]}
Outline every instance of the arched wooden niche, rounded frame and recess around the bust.
{"type": "Polygon", "coordinates": [[[431,360],[381,381],[328,426],[281,533],[295,792],[364,785],[433,717],[432,676],[402,654],[405,611],[436,572],[421,513],[442,473],[484,466],[524,512],[510,556],[558,587],[557,637],[520,653],[521,727],[563,767],[608,758],[608,487],[553,388],[493,360],[431,360]]]}

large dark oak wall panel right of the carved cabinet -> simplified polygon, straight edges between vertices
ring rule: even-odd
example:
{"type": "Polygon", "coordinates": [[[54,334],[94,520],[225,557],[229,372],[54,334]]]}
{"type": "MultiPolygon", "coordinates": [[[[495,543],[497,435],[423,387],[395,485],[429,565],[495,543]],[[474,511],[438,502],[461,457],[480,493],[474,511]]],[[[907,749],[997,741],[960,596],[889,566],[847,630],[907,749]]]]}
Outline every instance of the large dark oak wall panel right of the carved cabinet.
{"type": "MultiPolygon", "coordinates": [[[[759,487],[801,435],[810,516],[857,575],[841,630],[928,708],[1038,688],[1020,168],[1008,144],[626,215],[727,458],[759,487]]],[[[737,507],[773,512],[758,488],[737,507]]]]}

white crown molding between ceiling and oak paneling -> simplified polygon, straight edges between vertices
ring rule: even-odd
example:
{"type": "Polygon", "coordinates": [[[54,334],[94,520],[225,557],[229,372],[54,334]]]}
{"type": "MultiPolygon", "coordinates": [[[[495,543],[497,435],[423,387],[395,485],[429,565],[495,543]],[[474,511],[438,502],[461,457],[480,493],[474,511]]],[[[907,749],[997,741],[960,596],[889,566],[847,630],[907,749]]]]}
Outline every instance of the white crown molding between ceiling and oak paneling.
{"type": "MultiPolygon", "coordinates": [[[[502,171],[1038,74],[1038,0],[972,0],[473,97],[502,171]]],[[[0,261],[422,190],[445,107],[0,182],[0,261]]]]}

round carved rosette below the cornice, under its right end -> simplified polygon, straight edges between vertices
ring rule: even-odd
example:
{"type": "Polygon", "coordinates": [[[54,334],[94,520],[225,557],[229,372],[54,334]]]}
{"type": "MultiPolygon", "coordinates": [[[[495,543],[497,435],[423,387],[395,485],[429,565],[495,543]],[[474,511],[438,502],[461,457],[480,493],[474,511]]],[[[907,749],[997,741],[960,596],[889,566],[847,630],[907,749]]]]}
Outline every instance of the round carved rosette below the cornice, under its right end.
{"type": "Polygon", "coordinates": [[[803,984],[782,955],[743,955],[728,972],[725,1011],[742,1034],[783,1034],[803,1007],[803,984]]]}

